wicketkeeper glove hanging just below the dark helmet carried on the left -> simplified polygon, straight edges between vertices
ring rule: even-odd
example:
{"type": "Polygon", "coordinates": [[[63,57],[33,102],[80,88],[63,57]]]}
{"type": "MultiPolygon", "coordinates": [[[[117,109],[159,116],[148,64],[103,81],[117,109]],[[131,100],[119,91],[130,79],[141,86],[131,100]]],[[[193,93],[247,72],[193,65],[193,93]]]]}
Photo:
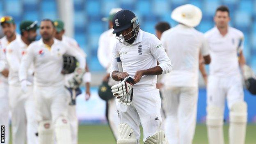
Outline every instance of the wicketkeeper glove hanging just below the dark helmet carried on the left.
{"type": "Polygon", "coordinates": [[[85,74],[85,70],[76,68],[73,78],[69,80],[69,87],[73,89],[77,89],[82,83],[82,78],[84,74],[85,74]]]}

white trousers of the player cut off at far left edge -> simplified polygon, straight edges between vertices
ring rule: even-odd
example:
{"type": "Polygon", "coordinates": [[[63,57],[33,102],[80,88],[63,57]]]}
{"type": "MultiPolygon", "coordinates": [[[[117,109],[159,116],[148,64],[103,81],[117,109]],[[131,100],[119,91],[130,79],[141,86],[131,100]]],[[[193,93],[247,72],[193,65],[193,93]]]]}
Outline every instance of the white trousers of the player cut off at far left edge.
{"type": "Polygon", "coordinates": [[[0,81],[0,126],[5,126],[5,142],[9,144],[9,98],[8,84],[0,81]]]}

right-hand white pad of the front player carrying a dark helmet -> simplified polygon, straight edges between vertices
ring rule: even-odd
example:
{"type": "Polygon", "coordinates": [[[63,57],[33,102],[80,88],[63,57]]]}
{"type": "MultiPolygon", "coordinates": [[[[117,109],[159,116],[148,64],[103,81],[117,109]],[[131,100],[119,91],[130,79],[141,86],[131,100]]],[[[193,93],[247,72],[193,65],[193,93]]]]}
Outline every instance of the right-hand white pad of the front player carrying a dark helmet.
{"type": "Polygon", "coordinates": [[[71,129],[66,117],[59,117],[55,121],[55,136],[57,144],[71,144],[71,129]]]}

